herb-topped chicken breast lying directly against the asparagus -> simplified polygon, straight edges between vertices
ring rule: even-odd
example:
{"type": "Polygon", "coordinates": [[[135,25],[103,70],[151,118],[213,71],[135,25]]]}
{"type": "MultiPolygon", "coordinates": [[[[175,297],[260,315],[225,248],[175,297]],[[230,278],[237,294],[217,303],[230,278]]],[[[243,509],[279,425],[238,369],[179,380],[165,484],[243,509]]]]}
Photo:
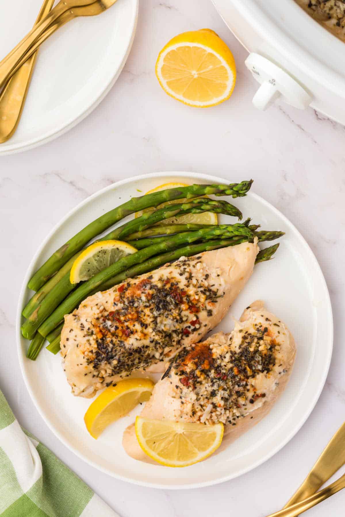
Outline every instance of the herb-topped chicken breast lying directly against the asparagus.
{"type": "Polygon", "coordinates": [[[163,372],[164,361],[218,325],[258,251],[255,241],[182,257],[86,298],[61,332],[72,393],[92,397],[134,371],[163,372]]]}

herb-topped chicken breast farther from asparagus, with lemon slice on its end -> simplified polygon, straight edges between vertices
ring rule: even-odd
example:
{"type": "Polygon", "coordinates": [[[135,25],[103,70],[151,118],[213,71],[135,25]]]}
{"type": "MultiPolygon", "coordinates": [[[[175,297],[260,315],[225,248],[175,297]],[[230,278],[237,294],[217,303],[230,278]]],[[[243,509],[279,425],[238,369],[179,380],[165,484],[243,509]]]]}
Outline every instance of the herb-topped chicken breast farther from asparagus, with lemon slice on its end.
{"type": "MultiPolygon", "coordinates": [[[[287,385],[296,347],[288,328],[262,301],[244,311],[230,334],[217,332],[184,349],[158,381],[141,415],[156,420],[224,424],[217,452],[256,425],[287,385]]],[[[140,448],[134,424],[123,437],[132,458],[151,460],[140,448]]]]}

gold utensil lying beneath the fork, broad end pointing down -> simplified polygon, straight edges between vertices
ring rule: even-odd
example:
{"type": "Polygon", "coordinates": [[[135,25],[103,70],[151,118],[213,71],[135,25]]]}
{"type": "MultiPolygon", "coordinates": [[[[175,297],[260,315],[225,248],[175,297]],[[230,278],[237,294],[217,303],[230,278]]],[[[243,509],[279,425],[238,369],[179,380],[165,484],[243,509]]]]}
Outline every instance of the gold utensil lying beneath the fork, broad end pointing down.
{"type": "MultiPolygon", "coordinates": [[[[47,16],[54,0],[44,0],[35,25],[47,16]]],[[[35,26],[34,25],[34,26],[35,26]]],[[[12,75],[0,94],[0,143],[6,142],[16,131],[29,89],[37,51],[12,75]]]]}

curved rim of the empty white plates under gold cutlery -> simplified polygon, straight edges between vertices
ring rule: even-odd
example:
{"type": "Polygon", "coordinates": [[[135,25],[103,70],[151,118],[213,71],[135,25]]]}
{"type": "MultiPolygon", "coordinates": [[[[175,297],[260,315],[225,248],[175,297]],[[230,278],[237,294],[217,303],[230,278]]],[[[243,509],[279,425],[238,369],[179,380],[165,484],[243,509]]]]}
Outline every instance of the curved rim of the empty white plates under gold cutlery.
{"type": "Polygon", "coordinates": [[[12,145],[10,144],[10,140],[9,140],[7,147],[6,147],[6,144],[5,145],[0,144],[0,156],[9,156],[9,155],[22,153],[23,151],[27,151],[29,149],[34,149],[35,147],[39,147],[40,145],[44,145],[48,142],[51,142],[52,140],[55,140],[59,136],[62,136],[63,134],[67,133],[67,131],[69,131],[73,127],[77,126],[82,120],[84,120],[84,118],[86,118],[90,113],[92,113],[97,108],[98,104],[100,104],[102,102],[102,100],[109,94],[111,88],[114,86],[115,82],[119,78],[119,75],[121,74],[121,72],[127,62],[129,53],[130,53],[132,45],[133,45],[134,37],[135,37],[136,31],[137,31],[138,14],[139,14],[139,0],[131,0],[131,1],[133,3],[135,3],[135,5],[134,5],[134,9],[133,9],[134,16],[132,17],[131,24],[129,25],[130,38],[127,43],[127,48],[126,48],[126,51],[125,51],[121,64],[116,69],[115,73],[113,75],[111,75],[110,81],[106,85],[104,85],[104,88],[102,89],[100,95],[96,99],[94,99],[91,102],[91,104],[87,104],[87,107],[85,108],[85,110],[83,110],[82,113],[80,113],[77,116],[77,118],[74,118],[73,120],[65,122],[64,123],[65,125],[62,124],[57,129],[55,128],[54,130],[48,131],[43,136],[38,136],[33,140],[28,140],[26,143],[18,143],[18,144],[12,144],[12,145]],[[4,150],[2,150],[2,149],[4,149],[4,150]]]}

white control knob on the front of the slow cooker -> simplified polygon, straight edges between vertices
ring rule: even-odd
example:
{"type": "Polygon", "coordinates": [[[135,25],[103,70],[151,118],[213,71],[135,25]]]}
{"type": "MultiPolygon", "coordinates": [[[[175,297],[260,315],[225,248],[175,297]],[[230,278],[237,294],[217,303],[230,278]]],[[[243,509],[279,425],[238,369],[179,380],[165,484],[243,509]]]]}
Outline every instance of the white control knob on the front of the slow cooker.
{"type": "Polygon", "coordinates": [[[259,110],[266,110],[278,97],[300,110],[309,106],[312,98],[308,92],[291,75],[266,57],[252,52],[245,60],[245,65],[253,78],[261,84],[253,97],[253,104],[259,110]]]}

